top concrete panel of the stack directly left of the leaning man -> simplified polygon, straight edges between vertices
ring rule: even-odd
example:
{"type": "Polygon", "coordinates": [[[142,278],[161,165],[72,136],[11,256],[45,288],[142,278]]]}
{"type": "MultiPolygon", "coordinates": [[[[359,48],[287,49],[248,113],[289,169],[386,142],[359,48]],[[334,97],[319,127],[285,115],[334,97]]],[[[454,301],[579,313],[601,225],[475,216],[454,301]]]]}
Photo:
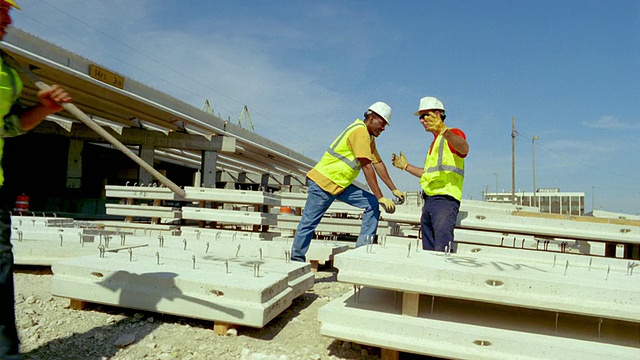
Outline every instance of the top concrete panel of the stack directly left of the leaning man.
{"type": "Polygon", "coordinates": [[[280,197],[273,193],[249,190],[216,189],[186,186],[185,198],[188,200],[212,201],[229,204],[261,204],[280,206],[280,197]]]}

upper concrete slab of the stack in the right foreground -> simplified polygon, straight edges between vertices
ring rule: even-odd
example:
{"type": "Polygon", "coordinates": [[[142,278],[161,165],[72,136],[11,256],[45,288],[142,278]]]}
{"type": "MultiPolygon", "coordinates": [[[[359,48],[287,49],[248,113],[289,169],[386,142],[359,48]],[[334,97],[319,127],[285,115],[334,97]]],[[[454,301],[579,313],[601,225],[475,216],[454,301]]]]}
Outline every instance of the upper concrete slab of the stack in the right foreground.
{"type": "Polygon", "coordinates": [[[640,274],[630,276],[624,261],[606,270],[576,264],[416,251],[409,246],[366,246],[334,257],[342,282],[640,322],[640,274]]]}

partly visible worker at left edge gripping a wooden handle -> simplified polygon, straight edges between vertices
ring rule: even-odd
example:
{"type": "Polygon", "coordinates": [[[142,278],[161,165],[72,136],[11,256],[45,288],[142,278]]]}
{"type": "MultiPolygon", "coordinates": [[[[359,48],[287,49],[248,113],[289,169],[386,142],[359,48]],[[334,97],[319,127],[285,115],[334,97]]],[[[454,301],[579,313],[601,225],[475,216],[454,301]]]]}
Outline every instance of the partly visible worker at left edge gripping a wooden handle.
{"type": "MultiPolygon", "coordinates": [[[[11,24],[9,11],[20,9],[13,0],[0,0],[0,40],[4,38],[11,24]]],[[[60,102],[71,102],[69,95],[61,87],[54,85],[50,90],[38,92],[39,104],[25,107],[19,101],[22,81],[18,72],[7,62],[11,59],[1,52],[0,66],[0,156],[4,148],[4,138],[24,134],[38,125],[47,115],[62,110],[60,102]]],[[[2,184],[4,174],[0,168],[0,359],[20,359],[19,339],[15,324],[15,300],[13,288],[13,252],[11,246],[11,212],[8,195],[2,184]]]]}

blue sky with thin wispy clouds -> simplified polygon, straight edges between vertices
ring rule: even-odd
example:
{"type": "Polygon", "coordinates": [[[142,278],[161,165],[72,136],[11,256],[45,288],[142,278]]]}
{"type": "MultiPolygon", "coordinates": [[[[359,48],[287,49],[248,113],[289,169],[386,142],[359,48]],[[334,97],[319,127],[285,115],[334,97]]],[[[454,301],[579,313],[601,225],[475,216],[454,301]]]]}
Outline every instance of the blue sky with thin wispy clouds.
{"type": "MultiPolygon", "coordinates": [[[[640,1],[18,0],[14,25],[319,159],[373,102],[393,168],[421,165],[412,114],[440,98],[470,153],[464,198],[536,185],[584,192],[586,210],[640,212],[640,1]]],[[[385,191],[387,195],[390,192],[385,191]]]]}

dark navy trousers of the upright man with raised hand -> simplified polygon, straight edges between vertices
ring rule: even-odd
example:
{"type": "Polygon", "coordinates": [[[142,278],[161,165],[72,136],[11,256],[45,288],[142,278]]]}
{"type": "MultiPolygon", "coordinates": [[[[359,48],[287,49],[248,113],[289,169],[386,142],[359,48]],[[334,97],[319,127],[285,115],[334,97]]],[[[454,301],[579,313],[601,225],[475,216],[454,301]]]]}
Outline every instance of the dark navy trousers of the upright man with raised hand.
{"type": "Polygon", "coordinates": [[[424,250],[453,252],[453,229],[456,227],[460,202],[451,196],[426,196],[423,193],[421,230],[424,250]]]}

